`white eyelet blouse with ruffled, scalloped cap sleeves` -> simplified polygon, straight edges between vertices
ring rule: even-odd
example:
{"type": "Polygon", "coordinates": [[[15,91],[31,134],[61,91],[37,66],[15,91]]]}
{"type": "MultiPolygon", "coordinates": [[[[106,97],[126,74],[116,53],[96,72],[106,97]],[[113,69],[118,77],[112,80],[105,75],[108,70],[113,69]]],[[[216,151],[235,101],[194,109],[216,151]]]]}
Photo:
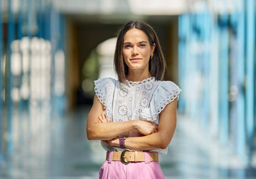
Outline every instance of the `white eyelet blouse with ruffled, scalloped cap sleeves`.
{"type": "MultiPolygon", "coordinates": [[[[172,81],[157,81],[150,77],[138,82],[126,80],[129,86],[120,83],[119,80],[107,77],[95,80],[95,93],[99,101],[104,105],[104,114],[108,122],[121,122],[129,120],[151,121],[158,125],[159,114],[164,107],[175,98],[179,99],[181,89],[172,81]]],[[[177,99],[177,100],[178,100],[177,99]]],[[[137,130],[123,133],[121,136],[143,136],[137,130]]],[[[101,141],[101,146],[106,151],[123,151],[116,146],[108,146],[101,141]]],[[[159,155],[166,155],[165,149],[134,150],[138,152],[156,151],[159,155]]]]}

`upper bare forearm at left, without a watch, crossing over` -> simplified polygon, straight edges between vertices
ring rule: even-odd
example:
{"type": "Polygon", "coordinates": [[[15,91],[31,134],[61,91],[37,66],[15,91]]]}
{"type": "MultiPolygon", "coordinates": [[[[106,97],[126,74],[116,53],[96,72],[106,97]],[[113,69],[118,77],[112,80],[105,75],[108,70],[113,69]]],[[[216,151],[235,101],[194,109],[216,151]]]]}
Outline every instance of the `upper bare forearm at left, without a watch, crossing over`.
{"type": "Polygon", "coordinates": [[[87,138],[89,140],[110,140],[125,132],[135,130],[136,120],[124,122],[104,122],[95,123],[87,128],[87,138]]]}

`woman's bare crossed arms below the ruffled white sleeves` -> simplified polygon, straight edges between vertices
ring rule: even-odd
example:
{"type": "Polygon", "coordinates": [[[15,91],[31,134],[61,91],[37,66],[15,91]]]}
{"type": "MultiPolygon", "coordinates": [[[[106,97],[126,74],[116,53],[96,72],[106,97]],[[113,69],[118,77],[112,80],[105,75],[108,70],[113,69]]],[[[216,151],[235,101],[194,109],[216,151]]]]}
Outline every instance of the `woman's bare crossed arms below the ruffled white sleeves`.
{"type": "MultiPolygon", "coordinates": [[[[176,128],[177,98],[170,102],[159,114],[157,131],[142,137],[128,137],[125,147],[134,150],[165,149],[170,144],[176,128]]],[[[120,146],[117,136],[138,129],[141,122],[137,119],[124,122],[103,122],[98,117],[104,112],[104,106],[94,96],[93,107],[88,114],[86,133],[88,140],[103,140],[110,146],[120,146]]]]}

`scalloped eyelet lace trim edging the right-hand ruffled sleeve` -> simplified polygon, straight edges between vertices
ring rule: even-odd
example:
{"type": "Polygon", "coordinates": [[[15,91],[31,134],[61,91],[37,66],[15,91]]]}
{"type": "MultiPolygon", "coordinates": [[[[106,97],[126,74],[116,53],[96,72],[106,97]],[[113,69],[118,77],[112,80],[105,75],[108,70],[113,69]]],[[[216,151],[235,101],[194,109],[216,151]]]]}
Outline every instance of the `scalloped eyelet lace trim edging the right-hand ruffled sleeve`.
{"type": "Polygon", "coordinates": [[[175,98],[179,99],[179,95],[181,91],[182,90],[180,88],[177,88],[176,90],[172,90],[172,93],[170,93],[171,96],[166,96],[166,99],[163,99],[159,103],[159,105],[156,105],[156,110],[150,112],[150,108],[146,108],[140,113],[141,117],[149,121],[155,121],[157,119],[157,115],[161,113],[161,111],[164,109],[166,105],[174,101],[175,98]]]}

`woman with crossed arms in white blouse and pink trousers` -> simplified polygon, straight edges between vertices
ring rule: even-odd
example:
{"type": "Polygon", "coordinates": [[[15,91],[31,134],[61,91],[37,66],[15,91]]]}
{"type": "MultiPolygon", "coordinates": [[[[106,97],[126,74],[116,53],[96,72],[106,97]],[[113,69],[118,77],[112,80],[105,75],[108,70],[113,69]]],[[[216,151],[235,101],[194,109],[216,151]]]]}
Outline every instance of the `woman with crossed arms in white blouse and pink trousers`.
{"type": "Polygon", "coordinates": [[[106,161],[99,178],[164,178],[158,155],[167,154],[182,91],[163,79],[166,62],[154,29],[130,21],[119,31],[114,54],[118,80],[95,82],[87,119],[88,140],[101,140],[106,161]]]}

